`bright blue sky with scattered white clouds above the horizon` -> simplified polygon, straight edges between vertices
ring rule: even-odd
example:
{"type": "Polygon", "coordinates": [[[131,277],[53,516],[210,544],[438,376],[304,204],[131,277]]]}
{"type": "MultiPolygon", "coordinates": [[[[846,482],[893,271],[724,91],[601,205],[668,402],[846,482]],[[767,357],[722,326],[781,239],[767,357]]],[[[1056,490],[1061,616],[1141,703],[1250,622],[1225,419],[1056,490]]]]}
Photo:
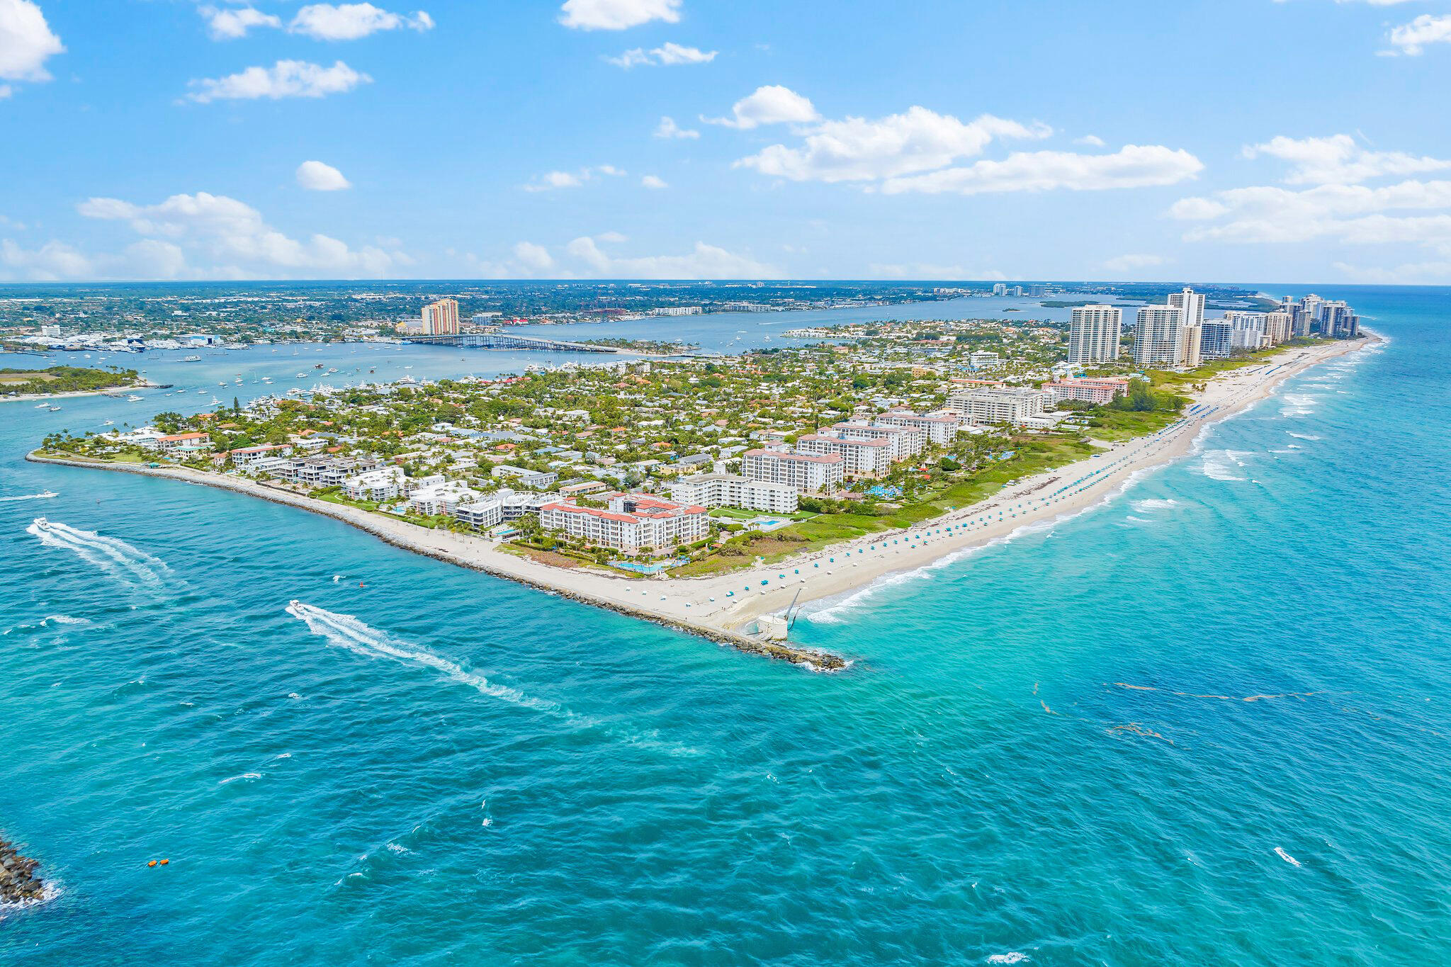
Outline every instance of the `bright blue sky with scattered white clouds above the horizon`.
{"type": "Polygon", "coordinates": [[[1451,280],[1451,0],[416,3],[0,0],[0,280],[1451,280]]]}

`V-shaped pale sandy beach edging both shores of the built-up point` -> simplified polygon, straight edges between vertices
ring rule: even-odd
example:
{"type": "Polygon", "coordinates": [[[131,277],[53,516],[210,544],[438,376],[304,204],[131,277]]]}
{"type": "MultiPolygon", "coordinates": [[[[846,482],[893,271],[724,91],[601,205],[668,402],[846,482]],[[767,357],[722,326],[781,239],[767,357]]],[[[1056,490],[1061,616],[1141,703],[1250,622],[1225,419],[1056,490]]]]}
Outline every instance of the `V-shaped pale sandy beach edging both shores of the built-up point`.
{"type": "Polygon", "coordinates": [[[892,573],[929,565],[949,554],[981,547],[1035,523],[1080,513],[1117,493],[1135,474],[1184,457],[1209,425],[1270,396],[1286,378],[1331,358],[1354,352],[1378,336],[1315,346],[1296,346],[1270,361],[1230,370],[1194,394],[1185,416],[1168,428],[1114,444],[1094,457],[1019,480],[969,507],[953,510],[907,531],[881,532],[786,561],[731,571],[726,576],[630,578],[541,564],[499,549],[479,535],[427,531],[396,518],[329,503],[280,486],[181,467],[142,467],[81,460],[78,467],[125,470],[187,483],[222,487],[344,520],[400,548],[498,577],[522,581],[591,605],[621,610],[705,635],[747,651],[770,654],[814,667],[843,663],[808,649],[755,638],[756,619],[781,613],[792,602],[804,605],[866,587],[892,573]]]}

